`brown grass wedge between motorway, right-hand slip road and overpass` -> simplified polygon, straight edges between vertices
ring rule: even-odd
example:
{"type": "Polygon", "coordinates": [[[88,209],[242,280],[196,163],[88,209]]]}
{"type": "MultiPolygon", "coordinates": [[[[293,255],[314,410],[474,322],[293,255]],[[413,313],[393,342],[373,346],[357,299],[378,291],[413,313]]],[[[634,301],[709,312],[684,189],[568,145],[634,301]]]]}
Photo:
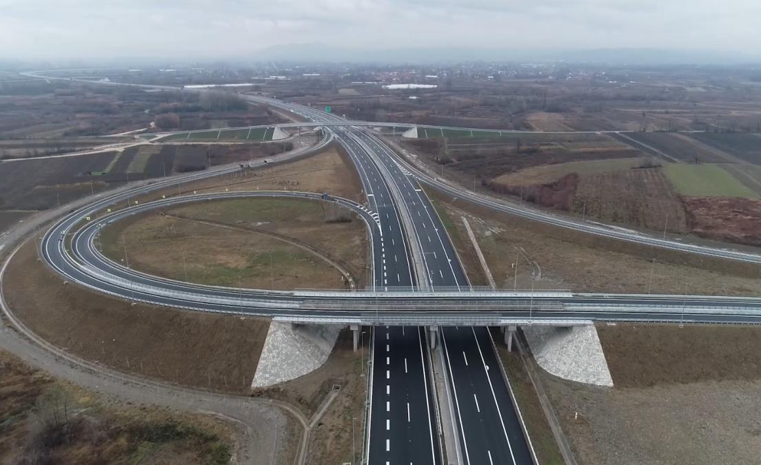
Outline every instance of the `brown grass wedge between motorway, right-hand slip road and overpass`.
{"type": "MultiPolygon", "coordinates": [[[[467,216],[498,288],[530,289],[533,285],[579,292],[682,294],[686,290],[705,295],[758,295],[758,266],[607,240],[427,192],[443,205],[454,225],[461,224],[461,215],[467,216]]],[[[455,244],[470,242],[464,228],[456,231],[455,244]]],[[[473,252],[466,247],[457,250],[466,263],[473,263],[467,270],[473,284],[486,285],[473,252]]]]}

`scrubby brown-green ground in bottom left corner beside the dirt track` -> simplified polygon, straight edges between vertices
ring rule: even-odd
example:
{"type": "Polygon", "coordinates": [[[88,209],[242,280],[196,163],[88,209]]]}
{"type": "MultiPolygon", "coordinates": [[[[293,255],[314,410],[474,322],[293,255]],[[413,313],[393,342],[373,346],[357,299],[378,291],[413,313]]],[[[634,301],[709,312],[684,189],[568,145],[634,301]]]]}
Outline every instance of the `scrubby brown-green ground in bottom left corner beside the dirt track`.
{"type": "Polygon", "coordinates": [[[0,351],[2,463],[228,463],[231,429],[164,409],[103,403],[0,351]]]}

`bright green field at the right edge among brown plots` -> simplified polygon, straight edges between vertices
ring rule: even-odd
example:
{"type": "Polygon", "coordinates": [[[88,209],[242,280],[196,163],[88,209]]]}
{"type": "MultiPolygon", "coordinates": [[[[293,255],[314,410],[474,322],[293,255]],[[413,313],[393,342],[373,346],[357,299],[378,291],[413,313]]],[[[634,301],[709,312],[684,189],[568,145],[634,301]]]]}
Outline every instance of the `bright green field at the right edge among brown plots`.
{"type": "Polygon", "coordinates": [[[759,198],[740,180],[715,164],[669,164],[664,167],[664,174],[683,196],[759,198]]]}

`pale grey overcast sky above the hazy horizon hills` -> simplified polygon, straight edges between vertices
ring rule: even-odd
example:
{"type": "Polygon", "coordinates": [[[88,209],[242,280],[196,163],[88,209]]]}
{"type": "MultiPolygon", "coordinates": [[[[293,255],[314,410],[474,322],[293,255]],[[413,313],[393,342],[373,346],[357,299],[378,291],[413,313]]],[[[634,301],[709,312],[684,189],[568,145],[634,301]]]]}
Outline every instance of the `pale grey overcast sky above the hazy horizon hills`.
{"type": "Polygon", "coordinates": [[[0,0],[0,58],[613,47],[761,53],[761,0],[0,0]]]}

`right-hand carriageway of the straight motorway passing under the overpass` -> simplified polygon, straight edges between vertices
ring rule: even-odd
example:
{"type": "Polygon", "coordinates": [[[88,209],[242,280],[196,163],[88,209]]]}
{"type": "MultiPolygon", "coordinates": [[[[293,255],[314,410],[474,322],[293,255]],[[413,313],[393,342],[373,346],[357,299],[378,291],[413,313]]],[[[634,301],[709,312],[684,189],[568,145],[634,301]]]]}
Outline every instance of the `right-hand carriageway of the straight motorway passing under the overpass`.
{"type": "MultiPolygon", "coordinates": [[[[406,203],[413,220],[411,235],[422,251],[431,290],[444,287],[470,291],[454,246],[417,180],[396,163],[393,151],[380,139],[360,130],[355,137],[383,165],[390,182],[396,183],[401,201],[406,203]]],[[[441,341],[449,374],[447,382],[454,395],[457,416],[454,422],[464,455],[462,463],[533,463],[486,328],[445,327],[441,329],[441,341]]]]}

